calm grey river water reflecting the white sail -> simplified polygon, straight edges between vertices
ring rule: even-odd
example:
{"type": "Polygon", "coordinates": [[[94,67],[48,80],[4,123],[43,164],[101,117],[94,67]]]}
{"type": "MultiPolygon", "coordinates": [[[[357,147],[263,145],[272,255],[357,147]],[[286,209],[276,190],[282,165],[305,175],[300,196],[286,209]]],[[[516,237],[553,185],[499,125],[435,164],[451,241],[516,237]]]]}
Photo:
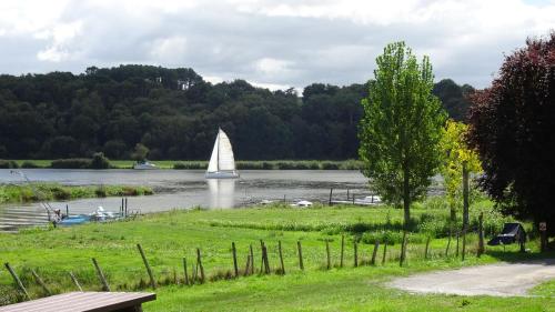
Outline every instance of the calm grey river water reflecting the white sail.
{"type": "MultiPolygon", "coordinates": [[[[31,181],[59,182],[68,185],[135,184],[150,185],[155,194],[128,199],[131,210],[142,213],[191,207],[233,208],[262,200],[293,203],[300,200],[327,202],[330,189],[334,199],[345,199],[351,192],[369,194],[366,179],[359,171],[335,170],[243,170],[238,180],[206,180],[203,170],[21,170],[31,181]]],[[[0,183],[22,183],[10,170],[0,170],[0,183]]],[[[101,205],[118,211],[120,198],[83,199],[51,202],[70,214],[90,213],[101,205]]],[[[0,205],[0,230],[43,223],[46,213],[38,204],[0,205]]]]}

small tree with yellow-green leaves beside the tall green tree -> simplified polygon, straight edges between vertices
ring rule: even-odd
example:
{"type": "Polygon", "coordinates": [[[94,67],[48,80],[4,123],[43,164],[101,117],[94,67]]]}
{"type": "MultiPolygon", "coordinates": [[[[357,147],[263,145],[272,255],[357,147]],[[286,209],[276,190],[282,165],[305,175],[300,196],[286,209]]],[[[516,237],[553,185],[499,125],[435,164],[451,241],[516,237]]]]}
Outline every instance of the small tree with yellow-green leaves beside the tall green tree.
{"type": "Polygon", "coordinates": [[[480,159],[475,151],[468,149],[465,135],[467,125],[462,122],[447,120],[443,128],[440,149],[442,151],[442,164],[440,172],[444,179],[445,193],[452,217],[463,200],[463,164],[466,163],[468,172],[482,170],[480,159]]]}

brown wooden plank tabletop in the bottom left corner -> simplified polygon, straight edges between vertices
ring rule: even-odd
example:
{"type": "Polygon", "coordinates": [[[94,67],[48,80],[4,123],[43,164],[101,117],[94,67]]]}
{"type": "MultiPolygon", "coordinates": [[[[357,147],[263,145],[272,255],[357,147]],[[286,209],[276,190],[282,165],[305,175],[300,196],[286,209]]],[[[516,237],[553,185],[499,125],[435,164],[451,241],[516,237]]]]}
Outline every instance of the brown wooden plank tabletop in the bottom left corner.
{"type": "Polygon", "coordinates": [[[69,292],[0,306],[0,312],[141,312],[157,299],[145,292],[69,292]]]}

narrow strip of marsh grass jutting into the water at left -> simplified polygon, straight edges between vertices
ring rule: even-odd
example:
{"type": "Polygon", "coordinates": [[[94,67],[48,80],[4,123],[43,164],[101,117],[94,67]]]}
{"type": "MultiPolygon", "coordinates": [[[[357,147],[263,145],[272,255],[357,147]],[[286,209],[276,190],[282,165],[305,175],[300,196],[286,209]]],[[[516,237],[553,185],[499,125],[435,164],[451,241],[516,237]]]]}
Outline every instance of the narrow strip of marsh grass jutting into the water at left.
{"type": "Polygon", "coordinates": [[[0,203],[64,201],[83,198],[151,195],[149,187],[141,185],[61,185],[59,183],[0,184],[0,203]],[[34,190],[33,190],[34,188],[34,190]]]}

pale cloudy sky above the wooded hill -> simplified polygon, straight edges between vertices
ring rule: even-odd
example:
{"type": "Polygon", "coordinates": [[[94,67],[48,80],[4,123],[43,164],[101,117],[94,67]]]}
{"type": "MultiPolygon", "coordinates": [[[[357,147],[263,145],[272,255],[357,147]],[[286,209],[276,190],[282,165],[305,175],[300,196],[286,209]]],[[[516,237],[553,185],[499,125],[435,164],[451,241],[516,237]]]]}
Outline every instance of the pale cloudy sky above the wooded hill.
{"type": "Polygon", "coordinates": [[[0,73],[192,68],[211,82],[346,85],[403,40],[436,80],[486,88],[505,56],[555,31],[555,0],[2,0],[0,73]]]}

